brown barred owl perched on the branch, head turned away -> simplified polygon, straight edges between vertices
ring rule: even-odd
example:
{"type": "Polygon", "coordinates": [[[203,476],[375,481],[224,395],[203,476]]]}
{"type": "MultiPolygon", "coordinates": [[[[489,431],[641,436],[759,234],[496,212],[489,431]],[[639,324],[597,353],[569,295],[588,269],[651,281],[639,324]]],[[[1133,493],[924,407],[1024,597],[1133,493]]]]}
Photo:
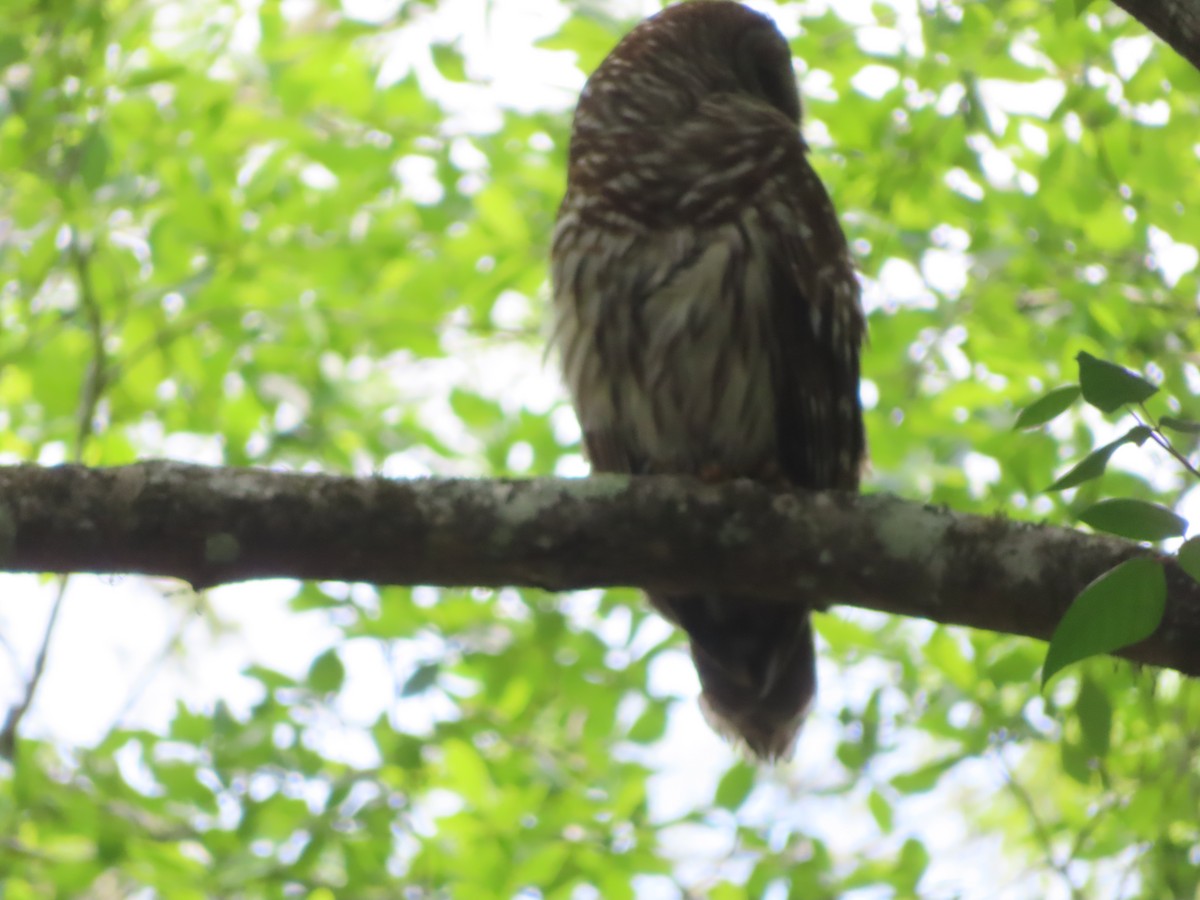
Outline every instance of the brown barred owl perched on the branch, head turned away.
{"type": "MultiPolygon", "coordinates": [[[[857,488],[859,289],[799,120],[786,41],[731,0],[647,19],[584,86],[552,342],[594,470],[857,488]]],[[[820,598],[649,600],[688,632],[708,721],[788,754],[820,598]]]]}

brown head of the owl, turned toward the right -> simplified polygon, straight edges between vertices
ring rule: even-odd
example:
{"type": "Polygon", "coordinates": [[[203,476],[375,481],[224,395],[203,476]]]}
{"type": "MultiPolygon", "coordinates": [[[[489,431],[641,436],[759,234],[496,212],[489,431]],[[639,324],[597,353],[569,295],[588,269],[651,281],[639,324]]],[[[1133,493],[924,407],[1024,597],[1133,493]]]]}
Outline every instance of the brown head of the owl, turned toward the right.
{"type": "Polygon", "coordinates": [[[691,0],[617,44],[588,79],[580,115],[606,128],[670,125],[714,94],[754,97],[800,121],[792,53],[775,24],[734,0],[691,0]]]}

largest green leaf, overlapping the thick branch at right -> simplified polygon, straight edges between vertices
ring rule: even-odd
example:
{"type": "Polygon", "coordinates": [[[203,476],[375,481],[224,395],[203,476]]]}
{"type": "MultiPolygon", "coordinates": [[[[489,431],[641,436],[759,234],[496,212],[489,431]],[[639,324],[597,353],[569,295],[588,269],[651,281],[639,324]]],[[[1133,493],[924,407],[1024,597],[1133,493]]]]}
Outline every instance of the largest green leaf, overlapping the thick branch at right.
{"type": "Polygon", "coordinates": [[[1064,666],[1138,643],[1154,634],[1166,605],[1166,577],[1153,559],[1129,559],[1072,602],[1050,638],[1042,688],[1064,666]]]}

